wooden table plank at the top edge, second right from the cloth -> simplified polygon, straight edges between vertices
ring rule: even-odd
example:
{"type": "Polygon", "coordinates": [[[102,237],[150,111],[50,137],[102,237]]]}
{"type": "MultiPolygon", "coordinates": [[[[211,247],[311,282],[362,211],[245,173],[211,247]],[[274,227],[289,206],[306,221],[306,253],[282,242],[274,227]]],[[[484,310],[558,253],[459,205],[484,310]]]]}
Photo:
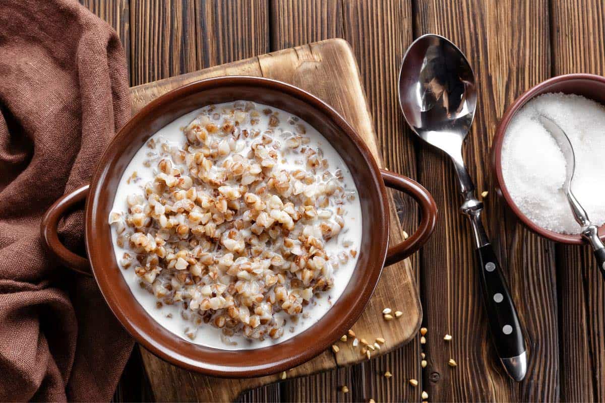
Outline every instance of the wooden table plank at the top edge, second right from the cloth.
{"type": "Polygon", "coordinates": [[[131,0],[131,85],[197,69],[195,8],[188,0],[131,0]]]}

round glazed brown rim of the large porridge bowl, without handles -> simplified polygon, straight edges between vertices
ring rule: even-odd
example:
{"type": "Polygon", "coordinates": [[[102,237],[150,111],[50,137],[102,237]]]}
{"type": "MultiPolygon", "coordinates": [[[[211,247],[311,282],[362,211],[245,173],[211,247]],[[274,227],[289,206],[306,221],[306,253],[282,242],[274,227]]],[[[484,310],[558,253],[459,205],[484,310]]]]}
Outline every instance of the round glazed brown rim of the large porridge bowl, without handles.
{"type": "MultiPolygon", "coordinates": [[[[225,99],[224,102],[228,102],[228,100],[225,99]]],[[[200,106],[197,108],[200,108],[203,105],[203,103],[200,103],[200,106]]],[[[183,114],[185,113],[186,112],[183,112],[183,114]]],[[[293,112],[290,111],[290,113],[293,112]]],[[[143,138],[144,144],[153,134],[155,134],[155,132],[145,134],[144,136],[139,135],[139,137],[143,138]]],[[[131,145],[130,147],[134,146],[131,145]]],[[[139,147],[140,146],[137,146],[137,149],[139,147]]],[[[128,161],[129,160],[130,158],[128,161]]],[[[359,162],[361,163],[362,161],[359,162]]],[[[351,169],[350,166],[348,167],[351,169]]],[[[354,179],[356,185],[359,186],[355,175],[354,179]]],[[[119,178],[117,178],[117,180],[119,180],[119,178]]],[[[361,202],[361,192],[359,193],[359,196],[361,202]]],[[[362,202],[362,209],[363,208],[362,202]]],[[[309,94],[309,92],[277,80],[247,76],[215,77],[189,83],[156,98],[134,115],[134,117],[132,117],[118,132],[116,137],[114,137],[100,158],[99,164],[97,164],[97,168],[91,179],[90,193],[85,207],[86,248],[94,277],[103,297],[110,306],[111,311],[113,311],[114,315],[126,330],[128,330],[128,332],[146,349],[160,358],[165,359],[169,363],[185,369],[195,370],[206,375],[229,378],[249,378],[278,373],[309,361],[309,359],[312,359],[329,348],[333,341],[341,337],[342,334],[345,334],[355,321],[358,320],[370,300],[376,285],[378,285],[381,276],[388,245],[388,211],[385,185],[382,181],[378,164],[376,164],[376,161],[364,141],[361,140],[353,128],[349,126],[344,118],[342,118],[333,108],[314,95],[309,94]],[[358,264],[355,266],[345,291],[329,311],[319,318],[318,322],[312,324],[309,328],[288,340],[260,349],[224,350],[201,346],[184,340],[157,323],[151,315],[139,305],[134,295],[131,294],[128,285],[120,272],[120,268],[117,266],[113,243],[111,242],[111,235],[108,236],[108,234],[111,234],[108,230],[109,225],[107,224],[106,215],[109,211],[106,207],[99,207],[99,204],[102,206],[107,205],[108,203],[113,204],[113,196],[110,196],[110,194],[115,193],[115,190],[111,190],[110,185],[105,187],[104,185],[106,185],[108,181],[114,182],[116,180],[112,179],[115,178],[116,175],[113,175],[113,173],[108,171],[119,169],[120,177],[124,172],[126,166],[123,166],[121,169],[117,168],[117,160],[120,156],[124,158],[124,155],[129,153],[129,151],[125,151],[124,149],[126,148],[126,142],[129,141],[128,136],[134,128],[142,124],[142,121],[145,120],[146,117],[149,117],[151,114],[162,113],[165,106],[178,102],[178,100],[182,101],[184,99],[189,99],[186,97],[191,97],[194,94],[208,89],[216,90],[229,86],[234,88],[251,86],[253,89],[258,89],[259,91],[263,91],[263,89],[269,90],[270,93],[272,93],[272,91],[285,92],[286,98],[296,98],[297,102],[299,100],[302,103],[306,103],[310,108],[319,112],[319,115],[326,124],[334,125],[333,127],[336,127],[336,132],[338,132],[339,135],[348,138],[348,140],[344,141],[350,141],[354,149],[359,152],[359,155],[361,155],[362,159],[365,161],[364,164],[366,166],[364,166],[363,169],[368,169],[370,171],[368,172],[368,175],[371,176],[371,187],[364,189],[364,192],[376,192],[377,195],[368,196],[368,202],[373,198],[378,198],[380,200],[378,203],[379,205],[368,207],[375,208],[374,211],[381,213],[380,216],[371,218],[371,231],[362,230],[362,242],[365,242],[363,240],[364,237],[369,237],[368,239],[371,239],[372,245],[374,243],[379,244],[376,245],[376,247],[372,247],[371,251],[365,251],[369,256],[367,258],[369,267],[367,268],[368,276],[364,277],[364,281],[356,283],[353,283],[352,281],[355,279],[355,272],[360,268],[360,256],[360,260],[358,260],[358,264]],[[109,199],[111,200],[109,201],[109,199]],[[372,256],[373,254],[374,256],[372,256]],[[110,277],[113,280],[110,280],[110,277]],[[118,278],[120,280],[117,280],[118,278]],[[124,292],[125,290],[127,290],[127,292],[124,292]],[[353,294],[355,294],[355,296],[353,296],[353,294]],[[330,312],[332,312],[332,314],[330,312]],[[338,317],[334,318],[336,312],[338,312],[338,317]],[[328,322],[330,318],[332,318],[332,320],[328,322]],[[301,343],[298,343],[299,346],[293,346],[293,343],[296,341],[306,341],[307,343],[304,344],[304,346],[300,346],[301,343]],[[284,353],[284,349],[289,352],[287,356],[285,356],[286,353],[284,353]],[[272,358],[272,353],[275,353],[280,358],[277,360],[272,358]],[[263,355],[266,358],[257,359],[255,358],[255,355],[263,355]],[[211,363],[204,361],[204,358],[207,360],[212,358],[211,363]],[[236,358],[238,359],[237,363],[243,362],[243,364],[240,366],[234,366],[234,364],[230,365],[229,360],[231,359],[232,363],[234,363],[236,358]]],[[[365,225],[365,222],[362,225],[365,225]]],[[[360,251],[360,255],[361,253],[364,253],[364,251],[360,251]]],[[[364,269],[364,273],[365,270],[366,269],[364,269]]]]}

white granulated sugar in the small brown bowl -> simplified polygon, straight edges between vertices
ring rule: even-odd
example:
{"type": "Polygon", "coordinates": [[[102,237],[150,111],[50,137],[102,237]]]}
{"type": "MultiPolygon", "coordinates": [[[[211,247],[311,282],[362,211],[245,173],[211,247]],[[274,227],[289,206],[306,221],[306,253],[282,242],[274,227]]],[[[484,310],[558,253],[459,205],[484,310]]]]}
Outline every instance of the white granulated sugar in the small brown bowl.
{"type": "Polygon", "coordinates": [[[565,160],[557,142],[537,121],[551,118],[575,152],[572,191],[593,224],[605,222],[605,107],[579,95],[544,94],[523,106],[506,129],[502,175],[517,207],[540,227],[577,234],[563,192],[565,160]]]}

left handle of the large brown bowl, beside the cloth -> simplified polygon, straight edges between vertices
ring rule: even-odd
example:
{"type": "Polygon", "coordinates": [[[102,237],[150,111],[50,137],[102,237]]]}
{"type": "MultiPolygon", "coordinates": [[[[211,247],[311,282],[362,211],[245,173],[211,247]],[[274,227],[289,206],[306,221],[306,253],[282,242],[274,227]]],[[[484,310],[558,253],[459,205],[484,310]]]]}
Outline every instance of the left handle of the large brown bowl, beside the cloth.
{"type": "Polygon", "coordinates": [[[67,195],[61,196],[53,205],[48,208],[40,224],[40,234],[42,244],[47,251],[52,254],[62,265],[67,266],[73,271],[92,276],[90,273],[90,263],[82,256],[79,256],[68,250],[59,240],[57,227],[59,220],[67,211],[73,210],[74,206],[86,199],[90,185],[83,185],[67,195]]]}

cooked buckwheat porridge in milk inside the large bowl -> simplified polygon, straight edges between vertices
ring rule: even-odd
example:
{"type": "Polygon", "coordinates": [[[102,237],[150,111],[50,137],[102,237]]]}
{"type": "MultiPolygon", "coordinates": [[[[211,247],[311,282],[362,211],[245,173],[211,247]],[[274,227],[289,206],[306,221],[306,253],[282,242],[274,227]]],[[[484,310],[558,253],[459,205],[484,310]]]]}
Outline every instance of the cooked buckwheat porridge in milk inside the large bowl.
{"type": "Polygon", "coordinates": [[[153,135],[126,167],[109,222],[145,311],[219,349],[270,346],[316,323],[352,276],[362,225],[353,178],[325,138],[246,101],[153,135]]]}

